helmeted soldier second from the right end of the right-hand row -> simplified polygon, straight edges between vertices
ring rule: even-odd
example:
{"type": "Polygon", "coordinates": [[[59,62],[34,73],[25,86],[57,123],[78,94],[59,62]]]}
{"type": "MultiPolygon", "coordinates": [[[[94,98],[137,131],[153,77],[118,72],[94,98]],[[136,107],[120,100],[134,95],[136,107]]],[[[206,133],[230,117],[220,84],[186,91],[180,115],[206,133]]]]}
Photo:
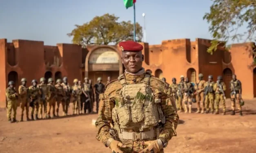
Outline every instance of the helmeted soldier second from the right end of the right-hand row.
{"type": "Polygon", "coordinates": [[[226,105],[225,105],[225,91],[226,85],[222,81],[222,76],[217,77],[217,82],[214,84],[214,92],[215,92],[215,114],[219,114],[219,105],[222,103],[223,106],[223,115],[226,114],[226,105]]]}

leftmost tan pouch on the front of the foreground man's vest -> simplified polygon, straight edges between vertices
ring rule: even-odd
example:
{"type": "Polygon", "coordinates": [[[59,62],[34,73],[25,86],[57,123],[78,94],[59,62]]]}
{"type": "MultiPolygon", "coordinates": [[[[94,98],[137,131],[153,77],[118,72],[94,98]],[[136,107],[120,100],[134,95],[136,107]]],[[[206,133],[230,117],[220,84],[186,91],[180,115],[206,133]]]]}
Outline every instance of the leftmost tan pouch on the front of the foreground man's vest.
{"type": "Polygon", "coordinates": [[[128,104],[125,104],[120,108],[116,109],[116,113],[120,125],[127,126],[132,121],[131,111],[128,104]]]}

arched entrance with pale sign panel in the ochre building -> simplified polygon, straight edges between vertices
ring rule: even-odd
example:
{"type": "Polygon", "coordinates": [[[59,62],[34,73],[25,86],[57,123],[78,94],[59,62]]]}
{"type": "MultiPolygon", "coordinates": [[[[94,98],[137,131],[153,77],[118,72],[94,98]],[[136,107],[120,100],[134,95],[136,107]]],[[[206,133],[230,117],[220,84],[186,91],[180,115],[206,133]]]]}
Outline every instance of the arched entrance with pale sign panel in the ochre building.
{"type": "Polygon", "coordinates": [[[112,46],[97,46],[91,50],[85,59],[85,77],[96,83],[102,77],[106,85],[107,77],[116,79],[123,72],[122,60],[118,50],[112,46]]]}

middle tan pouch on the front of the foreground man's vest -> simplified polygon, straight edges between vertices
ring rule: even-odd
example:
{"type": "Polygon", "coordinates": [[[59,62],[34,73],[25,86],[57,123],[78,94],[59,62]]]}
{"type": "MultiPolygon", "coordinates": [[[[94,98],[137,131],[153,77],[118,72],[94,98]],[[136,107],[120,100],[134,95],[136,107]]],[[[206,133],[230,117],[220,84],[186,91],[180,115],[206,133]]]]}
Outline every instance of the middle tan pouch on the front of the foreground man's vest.
{"type": "Polygon", "coordinates": [[[143,103],[135,103],[131,107],[131,118],[134,123],[144,120],[143,103]]]}

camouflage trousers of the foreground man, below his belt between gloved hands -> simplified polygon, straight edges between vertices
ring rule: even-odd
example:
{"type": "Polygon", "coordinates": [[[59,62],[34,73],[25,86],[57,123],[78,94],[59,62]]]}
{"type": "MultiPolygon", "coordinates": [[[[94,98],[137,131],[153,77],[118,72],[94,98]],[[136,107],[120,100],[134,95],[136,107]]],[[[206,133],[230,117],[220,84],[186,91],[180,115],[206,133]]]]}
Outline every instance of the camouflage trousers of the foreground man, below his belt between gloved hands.
{"type": "MultiPolygon", "coordinates": [[[[145,149],[147,147],[147,145],[144,145],[144,140],[120,140],[120,142],[122,142],[122,144],[125,144],[127,147],[126,148],[122,148],[120,149],[121,151],[123,151],[124,153],[139,153],[140,151],[142,151],[143,149],[145,149]]],[[[163,149],[162,151],[159,151],[158,153],[164,153],[163,149]]]]}

